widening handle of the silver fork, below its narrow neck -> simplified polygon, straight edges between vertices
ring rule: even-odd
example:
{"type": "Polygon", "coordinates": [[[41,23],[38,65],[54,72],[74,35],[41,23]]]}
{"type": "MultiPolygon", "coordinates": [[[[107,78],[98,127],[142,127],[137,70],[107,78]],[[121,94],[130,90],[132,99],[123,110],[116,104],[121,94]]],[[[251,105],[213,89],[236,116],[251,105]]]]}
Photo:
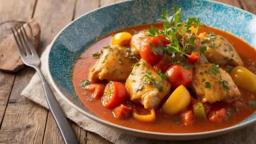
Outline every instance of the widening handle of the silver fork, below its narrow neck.
{"type": "Polygon", "coordinates": [[[49,84],[47,82],[43,82],[43,88],[48,106],[52,112],[56,124],[58,125],[60,134],[65,144],[79,144],[49,84]]]}

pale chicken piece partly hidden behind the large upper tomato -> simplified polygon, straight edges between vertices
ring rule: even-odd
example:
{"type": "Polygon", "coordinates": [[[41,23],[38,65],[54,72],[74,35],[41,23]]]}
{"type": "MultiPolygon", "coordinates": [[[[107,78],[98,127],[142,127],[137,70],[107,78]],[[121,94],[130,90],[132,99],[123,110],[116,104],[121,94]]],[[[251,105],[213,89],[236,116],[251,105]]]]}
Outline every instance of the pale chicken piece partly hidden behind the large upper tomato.
{"type": "Polygon", "coordinates": [[[134,54],[140,54],[140,43],[144,38],[147,37],[148,34],[149,34],[148,30],[144,30],[132,36],[130,48],[132,52],[134,52],[134,54]]]}

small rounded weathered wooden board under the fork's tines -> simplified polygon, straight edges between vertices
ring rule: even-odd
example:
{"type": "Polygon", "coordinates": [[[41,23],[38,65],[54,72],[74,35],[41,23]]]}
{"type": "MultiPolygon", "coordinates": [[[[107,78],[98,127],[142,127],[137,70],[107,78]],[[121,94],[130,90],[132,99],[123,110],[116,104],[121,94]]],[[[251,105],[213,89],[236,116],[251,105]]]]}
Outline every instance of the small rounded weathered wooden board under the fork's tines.
{"type": "MultiPolygon", "coordinates": [[[[24,24],[24,29],[26,30],[34,48],[37,49],[40,41],[39,24],[36,20],[31,19],[24,24]]],[[[20,54],[18,53],[13,34],[0,44],[0,52],[0,70],[4,72],[17,72],[24,68],[25,64],[22,62],[20,54]]]]}

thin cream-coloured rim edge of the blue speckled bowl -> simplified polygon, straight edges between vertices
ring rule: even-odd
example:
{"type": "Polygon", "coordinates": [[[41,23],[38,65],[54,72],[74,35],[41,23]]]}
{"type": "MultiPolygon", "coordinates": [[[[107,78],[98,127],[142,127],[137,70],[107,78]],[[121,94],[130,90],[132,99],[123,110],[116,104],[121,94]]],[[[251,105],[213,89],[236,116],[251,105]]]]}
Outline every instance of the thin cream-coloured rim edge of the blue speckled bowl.
{"type": "MultiPolygon", "coordinates": [[[[126,0],[126,1],[122,1],[122,2],[128,2],[128,1],[133,1],[133,0],[126,0]]],[[[224,4],[222,2],[215,2],[215,1],[211,1],[211,0],[202,0],[202,1],[208,1],[208,2],[213,2],[213,3],[218,3],[218,4],[222,4],[222,5],[226,5],[226,6],[229,6],[229,7],[232,7],[234,9],[237,9],[237,10],[240,10],[244,13],[248,13],[248,14],[252,14],[246,10],[242,10],[241,8],[237,8],[237,7],[234,7],[234,6],[230,6],[228,4],[224,4]]],[[[101,8],[105,8],[105,7],[108,7],[108,6],[112,6],[114,4],[118,4],[118,3],[122,3],[122,2],[116,2],[116,3],[113,3],[113,4],[108,4],[106,6],[103,6],[103,7],[100,7],[100,8],[96,8],[90,12],[94,12],[98,9],[101,9],[101,8]]],[[[90,12],[87,12],[86,14],[89,14],[90,12]]],[[[50,51],[51,51],[51,48],[54,44],[54,42],[56,41],[56,39],[58,38],[58,36],[62,33],[62,31],[64,29],[66,29],[70,24],[72,24],[73,22],[75,22],[76,20],[78,20],[79,18],[85,16],[86,14],[83,14],[82,16],[76,18],[75,20],[73,20],[72,22],[70,22],[68,25],[66,25],[54,38],[54,40],[52,41],[52,43],[50,44],[50,49],[48,50],[47,52],[47,57],[46,57],[46,67],[47,67],[47,74],[49,76],[49,80],[53,86],[53,88],[56,90],[56,92],[58,92],[58,94],[60,95],[61,98],[63,98],[66,102],[68,102],[68,104],[70,104],[70,106],[72,106],[73,108],[75,108],[76,110],[78,110],[78,112],[84,114],[85,116],[87,116],[88,118],[98,122],[98,123],[102,123],[102,124],[105,124],[105,125],[109,125],[109,126],[112,126],[112,127],[116,127],[116,128],[119,128],[119,129],[122,129],[122,130],[128,130],[128,131],[134,131],[134,132],[138,132],[138,133],[144,133],[144,134],[154,134],[154,135],[160,135],[160,136],[198,136],[198,135],[211,135],[211,134],[216,134],[216,133],[221,133],[221,132],[224,132],[224,131],[228,131],[228,132],[231,132],[231,131],[235,131],[235,130],[239,130],[241,128],[244,128],[246,126],[249,126],[251,124],[255,124],[256,123],[256,118],[253,119],[253,120],[249,120],[248,122],[244,122],[242,124],[239,124],[239,125],[234,125],[234,126],[231,126],[231,127],[228,127],[228,128],[223,128],[223,129],[220,129],[220,130],[212,130],[212,131],[207,131],[207,132],[195,132],[195,133],[163,133],[163,132],[150,132],[150,131],[144,131],[144,130],[137,130],[137,129],[133,129],[133,128],[127,128],[127,127],[124,127],[124,126],[120,126],[120,125],[117,125],[117,124],[113,124],[111,122],[108,122],[106,120],[102,120],[96,116],[93,116],[92,114],[89,114],[88,112],[85,112],[84,110],[82,110],[81,108],[79,108],[78,106],[76,106],[75,104],[73,104],[72,102],[70,102],[70,100],[68,100],[68,98],[66,98],[64,96],[64,94],[62,94],[62,92],[59,90],[59,88],[56,86],[53,78],[52,78],[52,75],[50,74],[50,69],[49,69],[49,54],[50,54],[50,51]]],[[[252,14],[253,16],[256,16],[255,14],[252,14]]]]}

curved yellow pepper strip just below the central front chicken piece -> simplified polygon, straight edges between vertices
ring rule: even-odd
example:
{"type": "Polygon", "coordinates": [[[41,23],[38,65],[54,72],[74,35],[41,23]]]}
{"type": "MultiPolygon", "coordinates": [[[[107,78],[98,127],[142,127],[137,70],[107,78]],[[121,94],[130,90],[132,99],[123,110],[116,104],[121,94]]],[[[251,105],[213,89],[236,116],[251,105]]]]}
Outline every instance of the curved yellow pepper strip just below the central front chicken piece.
{"type": "Polygon", "coordinates": [[[133,110],[132,117],[139,122],[153,122],[156,120],[156,114],[153,108],[151,110],[151,114],[148,115],[139,115],[135,110],[133,110]]]}

